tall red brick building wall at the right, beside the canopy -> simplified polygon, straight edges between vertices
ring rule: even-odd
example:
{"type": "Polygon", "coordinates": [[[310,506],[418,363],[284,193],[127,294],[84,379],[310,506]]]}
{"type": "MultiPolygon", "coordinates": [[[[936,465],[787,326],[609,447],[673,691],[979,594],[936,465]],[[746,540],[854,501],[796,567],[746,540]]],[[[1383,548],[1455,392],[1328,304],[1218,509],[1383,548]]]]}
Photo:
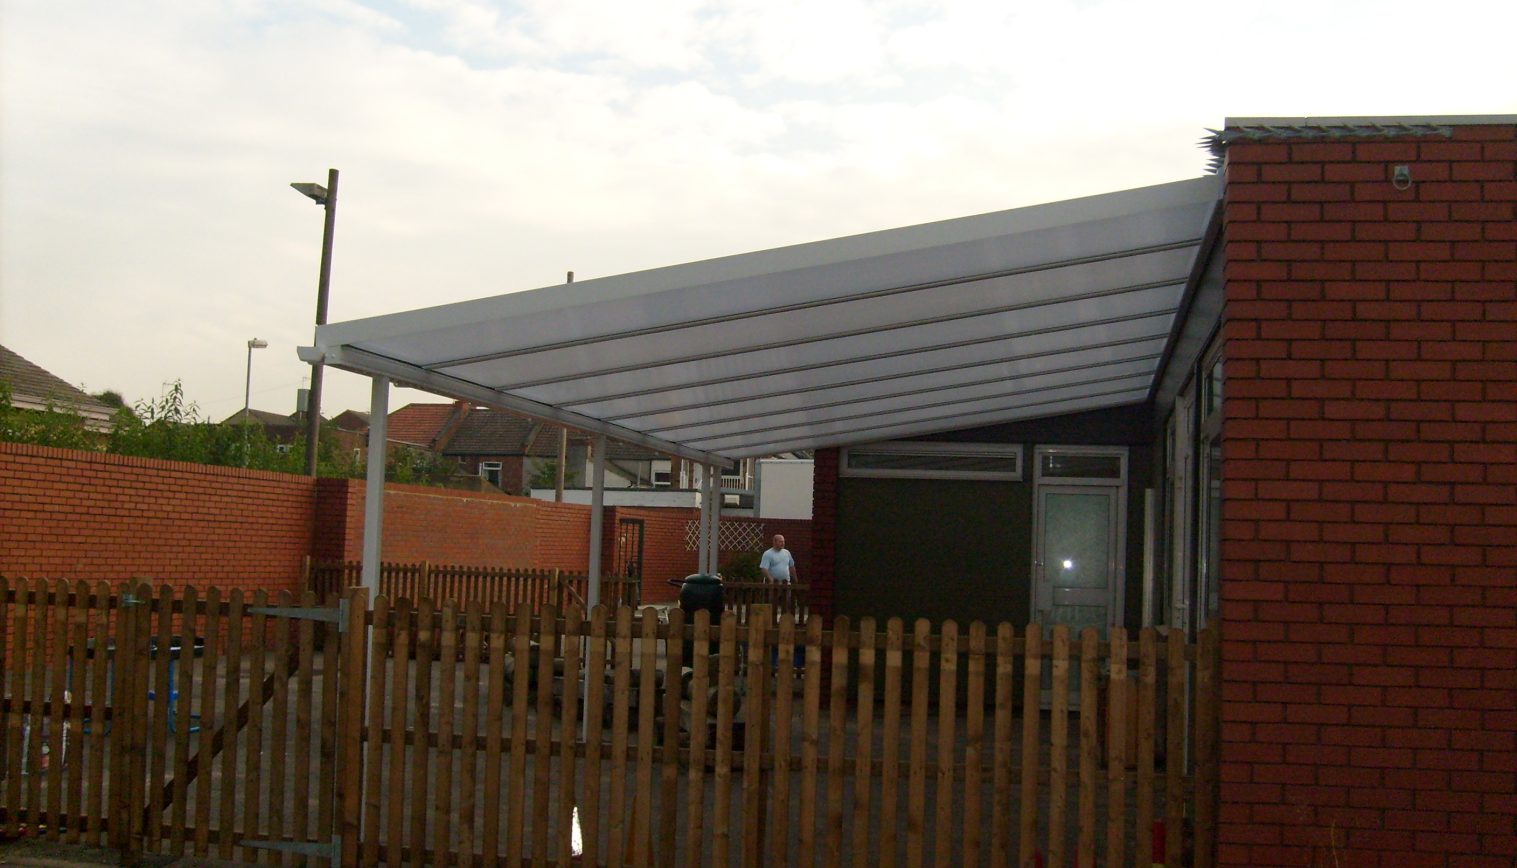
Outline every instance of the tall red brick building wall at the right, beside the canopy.
{"type": "Polygon", "coordinates": [[[1224,865],[1517,859],[1514,167],[1229,152],[1224,865]]]}

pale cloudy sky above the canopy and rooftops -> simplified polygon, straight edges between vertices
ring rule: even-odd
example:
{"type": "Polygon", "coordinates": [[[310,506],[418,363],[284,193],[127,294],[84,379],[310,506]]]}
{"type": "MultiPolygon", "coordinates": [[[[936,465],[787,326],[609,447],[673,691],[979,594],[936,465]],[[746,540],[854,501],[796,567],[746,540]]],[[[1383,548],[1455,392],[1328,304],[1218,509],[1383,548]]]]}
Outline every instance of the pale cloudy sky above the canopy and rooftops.
{"type": "Polygon", "coordinates": [[[1227,117],[1517,114],[1514,32],[1511,0],[0,0],[0,344],[211,419],[250,360],[288,413],[322,246],[288,185],[328,168],[341,322],[1195,178],[1227,117]]]}

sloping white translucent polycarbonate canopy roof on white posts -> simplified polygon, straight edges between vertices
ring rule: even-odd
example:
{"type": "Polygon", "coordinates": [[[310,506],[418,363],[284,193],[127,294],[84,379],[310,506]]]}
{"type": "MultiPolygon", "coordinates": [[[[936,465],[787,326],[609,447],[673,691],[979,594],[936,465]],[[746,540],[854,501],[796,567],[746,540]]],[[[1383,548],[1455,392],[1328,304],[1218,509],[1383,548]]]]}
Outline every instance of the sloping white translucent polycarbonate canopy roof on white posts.
{"type": "Polygon", "coordinates": [[[334,323],[316,352],[698,461],[1117,407],[1154,382],[1218,194],[1208,176],[334,323]]]}

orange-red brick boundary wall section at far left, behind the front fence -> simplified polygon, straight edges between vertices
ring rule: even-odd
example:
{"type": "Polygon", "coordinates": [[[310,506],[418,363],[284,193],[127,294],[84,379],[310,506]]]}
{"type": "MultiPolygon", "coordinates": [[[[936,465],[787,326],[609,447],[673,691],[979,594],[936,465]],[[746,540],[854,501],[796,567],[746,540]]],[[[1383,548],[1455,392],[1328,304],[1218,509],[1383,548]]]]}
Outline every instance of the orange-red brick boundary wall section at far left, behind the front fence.
{"type": "Polygon", "coordinates": [[[0,443],[6,577],[294,590],[306,476],[0,443]]]}

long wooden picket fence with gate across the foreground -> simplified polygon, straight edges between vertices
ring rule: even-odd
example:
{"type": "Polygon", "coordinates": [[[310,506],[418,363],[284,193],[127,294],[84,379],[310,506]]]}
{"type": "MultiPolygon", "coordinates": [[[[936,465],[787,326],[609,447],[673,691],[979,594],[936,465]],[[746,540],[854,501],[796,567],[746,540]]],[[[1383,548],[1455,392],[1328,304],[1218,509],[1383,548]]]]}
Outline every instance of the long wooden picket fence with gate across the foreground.
{"type": "Polygon", "coordinates": [[[344,599],[0,580],[3,832],[261,863],[1115,866],[1162,821],[1164,865],[1211,863],[1214,633],[344,599]]]}

